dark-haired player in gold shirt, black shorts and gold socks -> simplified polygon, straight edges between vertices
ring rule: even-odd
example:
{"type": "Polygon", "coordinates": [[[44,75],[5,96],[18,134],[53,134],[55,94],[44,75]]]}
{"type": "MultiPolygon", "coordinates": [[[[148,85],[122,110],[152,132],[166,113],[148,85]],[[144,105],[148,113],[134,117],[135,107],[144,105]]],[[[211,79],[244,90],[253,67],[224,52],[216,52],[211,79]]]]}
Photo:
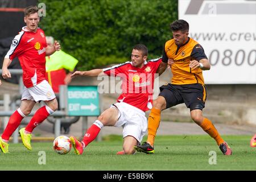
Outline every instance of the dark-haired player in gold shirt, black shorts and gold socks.
{"type": "Polygon", "coordinates": [[[188,37],[189,24],[185,20],[175,20],[171,24],[171,31],[174,38],[164,44],[162,61],[171,67],[173,77],[170,84],[160,87],[160,94],[153,102],[153,108],[148,117],[147,142],[134,148],[139,152],[154,153],[154,140],[161,111],[185,103],[190,109],[193,121],[216,140],[224,155],[231,155],[232,150],[228,143],[221,138],[212,122],[203,117],[207,93],[202,72],[210,69],[204,49],[188,37]]]}

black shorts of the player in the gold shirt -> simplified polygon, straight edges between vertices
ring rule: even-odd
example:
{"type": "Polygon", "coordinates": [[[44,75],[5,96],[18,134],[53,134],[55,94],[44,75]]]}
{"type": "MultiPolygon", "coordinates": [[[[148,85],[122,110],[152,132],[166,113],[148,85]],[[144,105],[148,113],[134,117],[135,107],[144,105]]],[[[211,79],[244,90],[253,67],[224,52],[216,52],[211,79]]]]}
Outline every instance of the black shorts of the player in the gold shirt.
{"type": "Polygon", "coordinates": [[[203,110],[207,92],[205,86],[201,84],[166,84],[160,87],[159,96],[166,99],[166,109],[185,103],[192,111],[195,109],[203,110]]]}

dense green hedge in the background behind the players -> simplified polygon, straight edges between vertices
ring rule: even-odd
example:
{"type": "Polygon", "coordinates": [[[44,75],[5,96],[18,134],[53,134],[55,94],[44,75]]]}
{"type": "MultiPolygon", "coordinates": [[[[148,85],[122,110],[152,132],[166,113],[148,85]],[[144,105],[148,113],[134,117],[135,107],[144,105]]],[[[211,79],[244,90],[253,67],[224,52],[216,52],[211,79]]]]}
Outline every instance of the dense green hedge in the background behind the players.
{"type": "Polygon", "coordinates": [[[161,56],[177,19],[177,0],[40,2],[46,3],[46,17],[39,26],[79,59],[79,69],[130,60],[138,43],[148,47],[149,59],[161,56]]]}

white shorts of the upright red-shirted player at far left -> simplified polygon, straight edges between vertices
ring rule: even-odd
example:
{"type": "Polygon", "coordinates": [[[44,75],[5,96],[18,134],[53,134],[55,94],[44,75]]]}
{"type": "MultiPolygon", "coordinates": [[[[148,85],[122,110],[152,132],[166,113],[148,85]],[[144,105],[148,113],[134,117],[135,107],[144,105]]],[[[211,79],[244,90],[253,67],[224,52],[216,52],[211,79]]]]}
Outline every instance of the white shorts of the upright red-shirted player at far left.
{"type": "Polygon", "coordinates": [[[56,98],[51,85],[48,81],[43,80],[38,85],[35,85],[30,88],[24,87],[21,100],[30,100],[30,101],[51,101],[56,98]]]}

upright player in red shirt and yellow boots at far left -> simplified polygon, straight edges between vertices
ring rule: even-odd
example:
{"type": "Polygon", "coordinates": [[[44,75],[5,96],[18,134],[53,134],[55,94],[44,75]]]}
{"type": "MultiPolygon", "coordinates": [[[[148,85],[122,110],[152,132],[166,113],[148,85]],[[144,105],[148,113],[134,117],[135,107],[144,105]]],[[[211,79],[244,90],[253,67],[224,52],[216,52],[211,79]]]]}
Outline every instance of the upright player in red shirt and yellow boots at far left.
{"type": "Polygon", "coordinates": [[[8,153],[9,138],[18,128],[26,115],[30,114],[38,101],[44,101],[46,106],[41,107],[32,117],[28,125],[19,130],[24,146],[31,150],[31,133],[49,114],[57,110],[57,100],[51,86],[46,81],[46,56],[60,50],[60,44],[47,46],[46,35],[38,27],[39,15],[36,6],[29,6],[24,10],[26,26],[13,39],[10,50],[3,60],[2,76],[10,78],[8,66],[14,57],[18,57],[23,70],[24,92],[20,107],[11,115],[9,122],[0,137],[0,148],[8,153]]]}

